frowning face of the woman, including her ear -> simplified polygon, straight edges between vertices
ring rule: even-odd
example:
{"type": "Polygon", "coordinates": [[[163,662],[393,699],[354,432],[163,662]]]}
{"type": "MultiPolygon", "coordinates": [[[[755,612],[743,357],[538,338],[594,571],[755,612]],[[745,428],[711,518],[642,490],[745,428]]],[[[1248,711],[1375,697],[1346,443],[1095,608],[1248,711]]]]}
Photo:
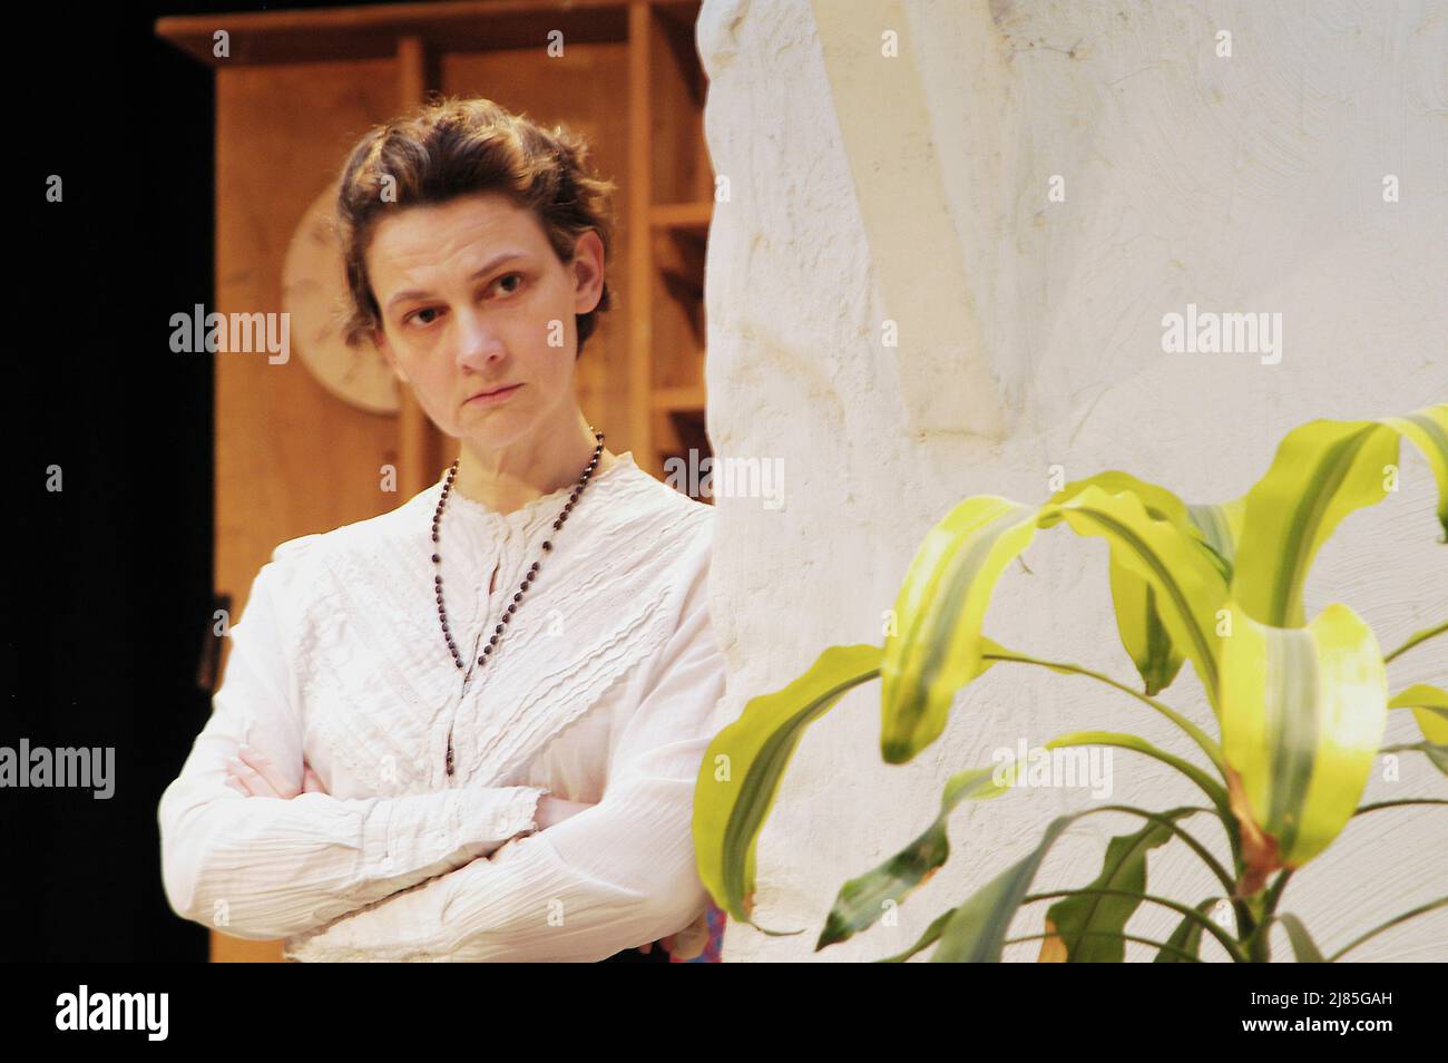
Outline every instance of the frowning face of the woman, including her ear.
{"type": "Polygon", "coordinates": [[[598,306],[604,284],[598,233],[579,236],[565,266],[530,210],[481,193],[387,217],[366,268],[378,348],[442,432],[495,450],[569,424],[573,314],[598,306]],[[473,398],[502,385],[517,387],[473,398]]]}

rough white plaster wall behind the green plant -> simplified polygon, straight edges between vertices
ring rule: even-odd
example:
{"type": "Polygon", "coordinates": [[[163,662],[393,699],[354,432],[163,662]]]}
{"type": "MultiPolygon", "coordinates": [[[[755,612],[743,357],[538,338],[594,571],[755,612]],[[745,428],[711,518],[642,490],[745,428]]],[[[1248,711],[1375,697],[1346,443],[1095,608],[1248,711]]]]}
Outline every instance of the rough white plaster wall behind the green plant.
{"type": "MultiPolygon", "coordinates": [[[[705,110],[728,201],[710,235],[710,434],[723,458],[779,461],[783,508],[718,500],[712,607],[731,676],[720,723],[831,643],[882,642],[919,539],[956,501],[1041,501],[1124,468],[1189,501],[1225,501],[1313,417],[1376,417],[1448,400],[1448,3],[1051,3],[705,0],[705,110]],[[1232,56],[1215,54],[1218,30],[1232,56]],[[896,58],[882,35],[898,35],[896,58]],[[1394,174],[1400,201],[1384,203],[1394,174]],[[1066,182],[1050,203],[1051,175],[1066,182]],[[1187,303],[1283,314],[1283,356],[1167,355],[1161,316],[1187,303]],[[899,329],[882,343],[882,323],[899,329]]],[[[1384,647],[1448,611],[1426,463],[1403,446],[1397,497],[1351,517],[1318,562],[1309,614],[1347,601],[1384,647]]],[[[1043,533],[1002,581],[986,630],[1122,681],[1105,545],[1043,533]]],[[[1442,644],[1390,668],[1394,689],[1444,682],[1442,644]]],[[[1215,733],[1190,666],[1166,699],[1215,733]]],[[[947,867],[898,925],[814,953],[840,885],[935,815],[946,778],[998,746],[1129,730],[1186,753],[1174,728],[1086,679],[998,666],[911,765],[879,756],[879,685],[814,726],[759,847],[757,920],[725,957],[863,960],[1034,847],[1087,791],[967,802],[947,867]]],[[[1389,740],[1413,740],[1403,713],[1389,740]]],[[[1192,750],[1195,752],[1195,750],[1192,750]]],[[[1111,801],[1196,804],[1177,775],[1118,750],[1111,801]]],[[[1425,759],[1365,799],[1448,797],[1425,759]]],[[[1095,815],[1057,843],[1037,889],[1086,885],[1095,815]]],[[[1225,859],[1205,818],[1196,833],[1225,859]]],[[[1213,881],[1174,846],[1148,888],[1195,904],[1213,881]]],[[[1300,870],[1283,911],[1323,949],[1448,892],[1448,815],[1361,817],[1300,870]]],[[[1012,934],[1040,933],[1044,904],[1012,934]]],[[[1164,938],[1170,911],[1129,930],[1164,938]]],[[[1031,960],[1035,944],[1008,949],[1031,960]]],[[[1205,953],[1221,959],[1215,946],[1205,953]]],[[[1284,936],[1276,959],[1290,957],[1284,936]]],[[[1128,957],[1148,957],[1131,946],[1128,957]]],[[[1448,960],[1448,911],[1360,960],[1448,960]]]]}

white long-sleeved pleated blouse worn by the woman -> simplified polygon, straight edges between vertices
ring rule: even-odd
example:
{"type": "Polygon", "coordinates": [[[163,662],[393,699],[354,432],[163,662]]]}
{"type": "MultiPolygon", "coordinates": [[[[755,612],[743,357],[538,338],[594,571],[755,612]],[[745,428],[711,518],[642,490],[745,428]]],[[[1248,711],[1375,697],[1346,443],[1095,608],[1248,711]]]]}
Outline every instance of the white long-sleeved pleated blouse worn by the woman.
{"type": "Polygon", "coordinates": [[[171,907],[308,962],[601,960],[685,928],[710,901],[692,805],[725,673],[712,507],[624,452],[562,529],[571,488],[505,514],[453,491],[434,545],[442,485],[285,542],[256,573],[161,798],[171,907]],[[232,789],[243,741],[294,786],[306,757],[327,792],[232,789]],[[597,804],[537,831],[546,792],[597,804]]]}

